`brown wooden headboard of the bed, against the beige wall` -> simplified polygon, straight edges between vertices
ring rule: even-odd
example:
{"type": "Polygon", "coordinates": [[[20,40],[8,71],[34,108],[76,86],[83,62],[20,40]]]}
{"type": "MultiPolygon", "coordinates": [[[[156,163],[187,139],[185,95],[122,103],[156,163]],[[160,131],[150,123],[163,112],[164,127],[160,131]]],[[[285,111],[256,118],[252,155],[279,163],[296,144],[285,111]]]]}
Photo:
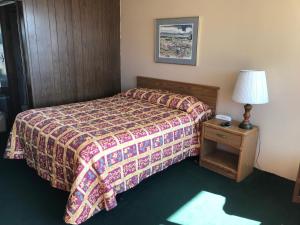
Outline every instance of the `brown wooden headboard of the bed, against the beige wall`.
{"type": "Polygon", "coordinates": [[[137,77],[137,87],[168,90],[178,94],[192,95],[208,104],[214,112],[216,111],[218,91],[220,89],[219,87],[214,86],[161,80],[142,76],[137,77]]]}

